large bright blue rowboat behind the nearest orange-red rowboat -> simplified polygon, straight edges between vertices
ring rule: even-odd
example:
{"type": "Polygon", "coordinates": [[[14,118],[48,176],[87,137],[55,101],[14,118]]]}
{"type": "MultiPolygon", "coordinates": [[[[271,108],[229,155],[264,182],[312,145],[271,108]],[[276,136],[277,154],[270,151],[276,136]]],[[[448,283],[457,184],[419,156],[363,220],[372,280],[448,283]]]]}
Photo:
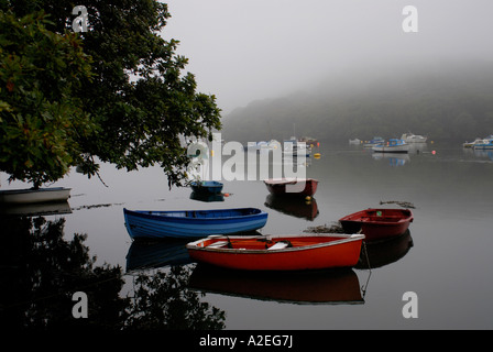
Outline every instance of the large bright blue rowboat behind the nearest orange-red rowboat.
{"type": "Polygon", "coordinates": [[[250,232],[263,228],[267,213],[256,208],[218,210],[128,210],[125,227],[132,239],[196,239],[210,234],[250,232]]]}

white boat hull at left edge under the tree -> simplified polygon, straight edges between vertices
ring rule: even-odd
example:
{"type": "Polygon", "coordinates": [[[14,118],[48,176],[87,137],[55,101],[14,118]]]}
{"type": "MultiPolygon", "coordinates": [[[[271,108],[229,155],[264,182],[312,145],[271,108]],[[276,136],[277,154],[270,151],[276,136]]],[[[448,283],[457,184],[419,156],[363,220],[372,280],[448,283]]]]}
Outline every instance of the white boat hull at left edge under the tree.
{"type": "Polygon", "coordinates": [[[66,201],[69,197],[70,188],[64,187],[0,190],[0,204],[25,205],[66,201]]]}

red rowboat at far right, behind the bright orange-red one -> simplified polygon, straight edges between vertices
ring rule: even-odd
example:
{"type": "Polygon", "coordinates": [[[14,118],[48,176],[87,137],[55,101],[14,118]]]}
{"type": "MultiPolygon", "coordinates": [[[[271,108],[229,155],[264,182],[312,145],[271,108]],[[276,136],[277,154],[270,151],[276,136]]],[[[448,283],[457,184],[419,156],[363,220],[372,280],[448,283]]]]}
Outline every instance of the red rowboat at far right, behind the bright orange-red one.
{"type": "Polygon", "coordinates": [[[404,233],[413,222],[409,209],[366,209],[339,219],[346,233],[361,230],[366,241],[404,233]]]}

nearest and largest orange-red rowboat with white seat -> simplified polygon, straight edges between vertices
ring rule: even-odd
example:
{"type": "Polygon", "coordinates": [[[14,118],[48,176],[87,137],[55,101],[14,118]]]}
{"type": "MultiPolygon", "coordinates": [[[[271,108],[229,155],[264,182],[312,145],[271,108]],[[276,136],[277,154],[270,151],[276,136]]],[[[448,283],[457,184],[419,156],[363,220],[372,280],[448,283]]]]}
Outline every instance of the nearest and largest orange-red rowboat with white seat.
{"type": "Polygon", "coordinates": [[[199,263],[246,271],[300,271],[354,266],[363,234],[282,237],[210,235],[187,244],[199,263]]]}

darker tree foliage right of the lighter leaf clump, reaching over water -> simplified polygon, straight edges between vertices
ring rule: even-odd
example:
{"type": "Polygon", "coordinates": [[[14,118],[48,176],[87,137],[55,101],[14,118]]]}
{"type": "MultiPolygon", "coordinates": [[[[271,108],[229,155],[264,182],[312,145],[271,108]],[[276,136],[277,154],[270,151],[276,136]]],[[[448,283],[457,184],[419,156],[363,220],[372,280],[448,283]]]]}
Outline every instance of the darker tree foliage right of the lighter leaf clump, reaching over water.
{"type": "Polygon", "coordinates": [[[171,16],[167,6],[15,0],[0,9],[18,18],[43,10],[52,22],[46,29],[66,35],[74,33],[76,6],[87,9],[87,31],[77,35],[92,61],[91,80],[80,80],[76,98],[96,125],[77,140],[78,164],[89,175],[97,173],[96,160],[129,170],[158,164],[169,185],[179,185],[188,164],[180,136],[210,138],[221,124],[216,98],[197,92],[194,75],[183,73],[187,58],[175,53],[178,42],[160,36],[171,16]]]}

